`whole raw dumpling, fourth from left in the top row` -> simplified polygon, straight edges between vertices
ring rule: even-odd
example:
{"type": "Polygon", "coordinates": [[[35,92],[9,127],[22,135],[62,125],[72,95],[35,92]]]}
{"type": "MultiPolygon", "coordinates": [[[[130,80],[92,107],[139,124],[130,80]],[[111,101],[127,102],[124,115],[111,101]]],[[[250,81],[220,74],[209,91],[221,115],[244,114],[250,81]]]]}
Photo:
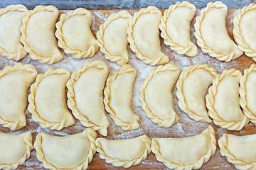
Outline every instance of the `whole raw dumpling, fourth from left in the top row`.
{"type": "Polygon", "coordinates": [[[105,54],[106,59],[119,65],[127,64],[129,61],[127,27],[131,18],[127,11],[112,13],[97,32],[97,45],[100,46],[100,51],[105,54]]]}

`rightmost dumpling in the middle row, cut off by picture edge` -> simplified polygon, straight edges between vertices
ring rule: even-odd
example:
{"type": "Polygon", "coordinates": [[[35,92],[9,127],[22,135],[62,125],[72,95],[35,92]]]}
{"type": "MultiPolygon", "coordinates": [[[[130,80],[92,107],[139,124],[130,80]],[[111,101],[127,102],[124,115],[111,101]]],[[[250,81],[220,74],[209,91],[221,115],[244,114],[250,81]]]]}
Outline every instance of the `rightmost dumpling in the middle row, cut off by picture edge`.
{"type": "Polygon", "coordinates": [[[240,79],[239,94],[243,113],[256,124],[256,64],[244,70],[244,75],[240,79]]]}

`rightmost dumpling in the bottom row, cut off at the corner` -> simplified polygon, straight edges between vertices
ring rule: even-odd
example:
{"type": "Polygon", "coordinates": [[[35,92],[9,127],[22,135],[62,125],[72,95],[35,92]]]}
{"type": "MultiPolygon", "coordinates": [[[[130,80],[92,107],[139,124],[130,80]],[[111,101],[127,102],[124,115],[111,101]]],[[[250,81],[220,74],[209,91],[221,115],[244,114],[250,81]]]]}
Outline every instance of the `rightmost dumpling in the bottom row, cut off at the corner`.
{"type": "Polygon", "coordinates": [[[220,154],[236,169],[256,169],[256,135],[224,134],[218,140],[220,154]]]}

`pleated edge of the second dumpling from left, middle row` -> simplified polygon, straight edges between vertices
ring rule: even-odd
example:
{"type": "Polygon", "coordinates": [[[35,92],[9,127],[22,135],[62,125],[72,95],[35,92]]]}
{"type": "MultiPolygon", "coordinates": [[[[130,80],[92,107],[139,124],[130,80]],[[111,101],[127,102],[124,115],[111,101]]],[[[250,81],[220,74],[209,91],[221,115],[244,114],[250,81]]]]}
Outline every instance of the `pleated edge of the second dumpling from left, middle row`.
{"type": "Polygon", "coordinates": [[[30,113],[32,113],[32,119],[35,122],[38,122],[41,125],[41,127],[50,128],[51,130],[61,130],[61,129],[66,128],[70,125],[75,124],[75,120],[73,119],[71,113],[70,113],[70,115],[68,115],[67,118],[62,120],[60,123],[50,123],[47,120],[44,120],[43,118],[41,118],[40,115],[38,114],[38,112],[36,111],[36,102],[35,102],[36,90],[38,89],[39,84],[41,84],[41,81],[45,77],[48,77],[48,76],[53,75],[53,74],[57,74],[57,75],[67,74],[67,75],[70,75],[70,72],[68,71],[68,69],[53,69],[53,68],[50,68],[46,71],[45,74],[38,74],[38,76],[36,77],[36,81],[31,85],[31,94],[29,94],[29,96],[28,96],[28,102],[29,102],[28,111],[30,113]]]}

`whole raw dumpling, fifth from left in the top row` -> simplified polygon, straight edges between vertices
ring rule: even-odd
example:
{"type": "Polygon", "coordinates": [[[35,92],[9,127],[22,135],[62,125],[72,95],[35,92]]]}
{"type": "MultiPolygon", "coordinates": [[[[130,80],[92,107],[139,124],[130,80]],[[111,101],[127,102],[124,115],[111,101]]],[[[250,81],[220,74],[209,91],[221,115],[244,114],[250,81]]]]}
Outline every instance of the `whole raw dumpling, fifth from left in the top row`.
{"type": "Polygon", "coordinates": [[[146,64],[166,64],[168,56],[161,52],[159,23],[161,11],[154,6],[141,8],[134,13],[127,28],[130,48],[146,64]]]}

